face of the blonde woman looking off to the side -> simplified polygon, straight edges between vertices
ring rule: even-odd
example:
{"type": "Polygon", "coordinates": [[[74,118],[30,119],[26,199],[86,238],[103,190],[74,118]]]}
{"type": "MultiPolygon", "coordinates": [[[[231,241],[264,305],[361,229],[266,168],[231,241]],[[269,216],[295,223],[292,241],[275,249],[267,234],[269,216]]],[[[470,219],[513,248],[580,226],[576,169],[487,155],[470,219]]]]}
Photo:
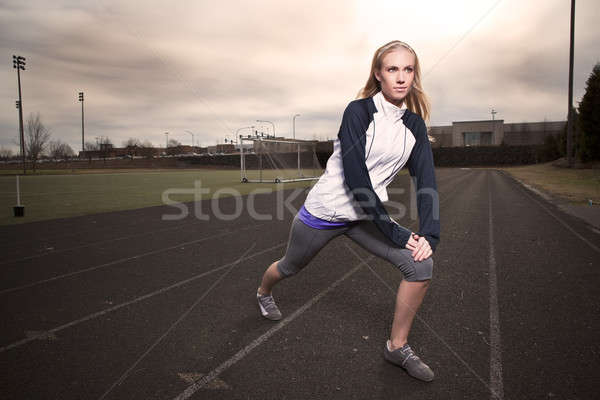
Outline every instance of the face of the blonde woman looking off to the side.
{"type": "Polygon", "coordinates": [[[402,106],[415,79],[415,56],[403,47],[390,51],[383,57],[381,69],[375,71],[375,78],[386,100],[402,106]]]}

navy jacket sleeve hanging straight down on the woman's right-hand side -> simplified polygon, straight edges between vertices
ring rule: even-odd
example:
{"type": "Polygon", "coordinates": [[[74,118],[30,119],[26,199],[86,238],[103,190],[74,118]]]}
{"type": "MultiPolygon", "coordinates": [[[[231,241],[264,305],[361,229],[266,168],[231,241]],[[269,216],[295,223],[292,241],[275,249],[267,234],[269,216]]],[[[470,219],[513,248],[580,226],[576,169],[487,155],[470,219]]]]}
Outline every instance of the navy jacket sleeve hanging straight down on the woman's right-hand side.
{"type": "Polygon", "coordinates": [[[433,152],[427,138],[427,127],[420,119],[416,128],[416,143],[408,159],[408,171],[416,181],[417,208],[419,212],[419,236],[425,236],[431,250],[440,241],[440,201],[435,182],[433,152]]]}

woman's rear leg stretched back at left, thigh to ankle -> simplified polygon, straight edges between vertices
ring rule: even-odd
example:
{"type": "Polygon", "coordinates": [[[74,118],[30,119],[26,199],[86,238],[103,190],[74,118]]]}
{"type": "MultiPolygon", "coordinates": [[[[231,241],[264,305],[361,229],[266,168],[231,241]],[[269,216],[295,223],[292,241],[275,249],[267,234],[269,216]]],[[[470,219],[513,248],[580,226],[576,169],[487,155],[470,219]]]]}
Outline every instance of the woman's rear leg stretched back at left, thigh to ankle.
{"type": "Polygon", "coordinates": [[[300,272],[327,242],[346,230],[348,230],[347,227],[334,229],[312,228],[302,222],[296,214],[290,228],[285,256],[267,268],[258,288],[258,293],[271,294],[271,290],[277,282],[300,272]]]}

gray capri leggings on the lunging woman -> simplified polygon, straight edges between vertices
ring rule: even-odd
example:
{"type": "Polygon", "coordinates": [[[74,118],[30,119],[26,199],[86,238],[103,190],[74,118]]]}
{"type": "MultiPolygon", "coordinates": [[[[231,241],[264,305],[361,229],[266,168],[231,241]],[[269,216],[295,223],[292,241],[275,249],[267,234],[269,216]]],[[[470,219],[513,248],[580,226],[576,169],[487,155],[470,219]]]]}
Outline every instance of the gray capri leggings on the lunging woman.
{"type": "Polygon", "coordinates": [[[373,221],[362,220],[333,229],[316,229],[300,220],[298,214],[292,222],[285,256],[277,263],[283,277],[298,273],[333,238],[346,235],[371,253],[398,267],[409,282],[431,279],[433,259],[431,256],[415,261],[412,250],[400,248],[386,238],[373,221]]]}

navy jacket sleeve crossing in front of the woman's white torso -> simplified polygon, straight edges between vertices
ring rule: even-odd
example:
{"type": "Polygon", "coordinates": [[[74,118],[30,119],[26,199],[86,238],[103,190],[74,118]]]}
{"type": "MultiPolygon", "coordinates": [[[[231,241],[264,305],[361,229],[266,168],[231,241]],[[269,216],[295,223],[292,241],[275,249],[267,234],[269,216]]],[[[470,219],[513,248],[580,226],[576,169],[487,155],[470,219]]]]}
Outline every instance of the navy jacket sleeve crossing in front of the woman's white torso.
{"type": "Polygon", "coordinates": [[[365,124],[361,124],[358,115],[348,105],[338,133],[342,150],[344,181],[354,199],[360,204],[368,218],[373,220],[377,228],[394,244],[405,248],[412,232],[390,218],[373,189],[365,161],[366,129],[364,126],[365,124]]]}

